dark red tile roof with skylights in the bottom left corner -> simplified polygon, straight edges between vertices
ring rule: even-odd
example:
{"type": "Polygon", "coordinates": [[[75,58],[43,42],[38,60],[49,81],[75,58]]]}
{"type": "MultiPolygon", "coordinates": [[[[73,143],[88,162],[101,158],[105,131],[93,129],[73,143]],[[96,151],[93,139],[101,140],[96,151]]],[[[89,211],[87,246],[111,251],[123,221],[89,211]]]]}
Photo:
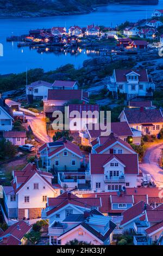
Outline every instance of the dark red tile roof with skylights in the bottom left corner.
{"type": "MultiPolygon", "coordinates": [[[[25,221],[18,221],[15,224],[11,225],[7,230],[5,230],[2,234],[2,236],[12,235],[16,239],[21,240],[23,236],[28,233],[32,229],[32,225],[28,224],[25,221]]],[[[8,241],[8,245],[12,245],[12,243],[15,243],[16,241],[10,237],[8,241]]],[[[17,243],[19,244],[19,243],[17,243]]]]}

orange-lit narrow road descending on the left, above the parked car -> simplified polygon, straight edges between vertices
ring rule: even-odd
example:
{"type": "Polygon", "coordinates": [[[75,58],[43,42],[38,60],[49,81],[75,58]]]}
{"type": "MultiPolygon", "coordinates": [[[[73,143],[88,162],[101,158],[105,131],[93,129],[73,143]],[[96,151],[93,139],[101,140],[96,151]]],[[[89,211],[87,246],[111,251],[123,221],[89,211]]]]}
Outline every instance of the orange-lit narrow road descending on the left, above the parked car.
{"type": "Polygon", "coordinates": [[[40,143],[49,142],[49,136],[47,135],[46,131],[46,123],[43,120],[43,114],[39,116],[27,116],[28,125],[33,131],[35,139],[40,143]]]}

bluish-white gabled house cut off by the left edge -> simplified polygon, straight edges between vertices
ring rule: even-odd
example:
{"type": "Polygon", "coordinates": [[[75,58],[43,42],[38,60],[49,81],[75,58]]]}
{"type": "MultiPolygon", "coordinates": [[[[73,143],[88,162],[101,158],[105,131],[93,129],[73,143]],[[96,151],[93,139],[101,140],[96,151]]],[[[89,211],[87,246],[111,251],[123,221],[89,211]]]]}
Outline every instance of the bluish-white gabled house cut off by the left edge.
{"type": "Polygon", "coordinates": [[[3,136],[4,131],[12,130],[12,121],[14,120],[11,108],[0,98],[0,133],[3,136]]]}

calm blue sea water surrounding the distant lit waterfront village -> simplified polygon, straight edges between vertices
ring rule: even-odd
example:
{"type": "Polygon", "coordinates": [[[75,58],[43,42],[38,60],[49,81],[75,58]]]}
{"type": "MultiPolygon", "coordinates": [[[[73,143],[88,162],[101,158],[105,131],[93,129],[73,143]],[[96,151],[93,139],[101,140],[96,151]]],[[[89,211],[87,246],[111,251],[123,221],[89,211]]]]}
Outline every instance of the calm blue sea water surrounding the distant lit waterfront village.
{"type": "Polygon", "coordinates": [[[82,67],[83,61],[91,55],[83,50],[77,54],[70,53],[38,53],[28,47],[17,48],[17,43],[7,43],[10,35],[26,34],[30,29],[51,28],[53,26],[79,25],[84,27],[95,23],[105,26],[116,26],[126,20],[137,21],[151,17],[154,9],[163,9],[163,0],[159,5],[122,5],[110,4],[102,6],[96,12],[85,15],[67,15],[54,17],[39,17],[32,19],[0,19],[0,43],[4,47],[4,56],[0,57],[0,74],[19,73],[26,69],[41,67],[44,70],[53,70],[67,63],[76,68],[82,67]]]}

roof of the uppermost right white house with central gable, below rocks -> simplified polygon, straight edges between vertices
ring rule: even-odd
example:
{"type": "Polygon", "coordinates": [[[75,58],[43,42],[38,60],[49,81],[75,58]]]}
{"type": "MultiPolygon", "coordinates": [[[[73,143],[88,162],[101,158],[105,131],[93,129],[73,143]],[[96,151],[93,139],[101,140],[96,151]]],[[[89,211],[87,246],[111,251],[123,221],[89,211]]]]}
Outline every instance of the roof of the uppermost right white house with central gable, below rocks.
{"type": "Polygon", "coordinates": [[[115,69],[116,82],[127,82],[127,75],[131,72],[139,74],[139,82],[148,82],[148,75],[146,69],[115,69]]]}

